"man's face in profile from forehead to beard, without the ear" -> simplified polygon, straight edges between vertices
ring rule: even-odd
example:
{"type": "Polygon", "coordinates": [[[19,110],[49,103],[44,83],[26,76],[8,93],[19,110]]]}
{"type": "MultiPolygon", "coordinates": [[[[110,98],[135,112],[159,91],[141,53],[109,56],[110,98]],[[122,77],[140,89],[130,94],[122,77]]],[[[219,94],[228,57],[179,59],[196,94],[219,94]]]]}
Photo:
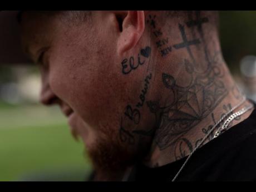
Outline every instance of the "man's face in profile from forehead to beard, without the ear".
{"type": "Polygon", "coordinates": [[[41,102],[59,105],[95,166],[111,170],[129,164],[149,144],[120,141],[124,110],[137,99],[145,77],[122,74],[124,57],[116,48],[121,31],[114,19],[110,12],[84,18],[24,12],[21,22],[24,50],[40,65],[41,102]]]}

